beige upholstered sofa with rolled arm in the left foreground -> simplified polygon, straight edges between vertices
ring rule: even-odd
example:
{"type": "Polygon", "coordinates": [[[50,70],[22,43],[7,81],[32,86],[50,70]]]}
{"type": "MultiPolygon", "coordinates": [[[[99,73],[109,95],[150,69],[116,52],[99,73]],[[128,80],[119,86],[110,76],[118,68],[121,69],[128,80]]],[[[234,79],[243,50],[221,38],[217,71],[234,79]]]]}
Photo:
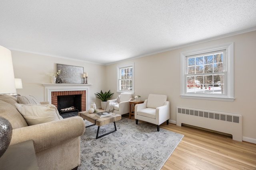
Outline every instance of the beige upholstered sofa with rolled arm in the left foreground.
{"type": "Polygon", "coordinates": [[[32,139],[40,170],[72,170],[80,165],[80,136],[85,124],[81,117],[70,117],[30,125],[16,109],[17,98],[0,95],[0,116],[12,125],[10,145],[32,139]]]}

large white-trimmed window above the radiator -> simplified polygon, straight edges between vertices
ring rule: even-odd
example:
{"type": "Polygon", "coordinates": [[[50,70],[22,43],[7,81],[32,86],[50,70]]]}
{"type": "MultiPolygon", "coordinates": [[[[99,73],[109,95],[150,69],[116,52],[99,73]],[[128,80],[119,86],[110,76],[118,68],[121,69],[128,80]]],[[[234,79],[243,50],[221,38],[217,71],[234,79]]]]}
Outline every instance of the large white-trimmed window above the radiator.
{"type": "Polygon", "coordinates": [[[181,97],[234,101],[234,44],[181,53],[181,97]]]}

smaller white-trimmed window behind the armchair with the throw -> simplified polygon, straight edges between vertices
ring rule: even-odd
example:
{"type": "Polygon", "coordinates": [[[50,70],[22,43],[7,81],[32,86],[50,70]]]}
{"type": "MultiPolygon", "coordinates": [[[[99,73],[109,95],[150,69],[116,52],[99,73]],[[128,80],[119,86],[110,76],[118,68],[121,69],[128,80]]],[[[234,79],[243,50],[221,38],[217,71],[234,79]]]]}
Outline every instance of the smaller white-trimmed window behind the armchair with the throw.
{"type": "Polygon", "coordinates": [[[118,92],[134,92],[134,64],[118,66],[118,92]]]}

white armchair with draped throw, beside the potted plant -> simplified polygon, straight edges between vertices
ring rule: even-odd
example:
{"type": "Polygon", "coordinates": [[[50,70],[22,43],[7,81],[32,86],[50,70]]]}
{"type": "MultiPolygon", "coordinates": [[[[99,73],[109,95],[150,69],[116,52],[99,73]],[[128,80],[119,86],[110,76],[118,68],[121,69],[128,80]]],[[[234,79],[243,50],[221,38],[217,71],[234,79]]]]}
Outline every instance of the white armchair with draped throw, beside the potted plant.
{"type": "Polygon", "coordinates": [[[132,94],[121,93],[118,98],[114,100],[108,100],[106,104],[106,111],[123,115],[129,113],[129,101],[133,100],[132,94]]]}

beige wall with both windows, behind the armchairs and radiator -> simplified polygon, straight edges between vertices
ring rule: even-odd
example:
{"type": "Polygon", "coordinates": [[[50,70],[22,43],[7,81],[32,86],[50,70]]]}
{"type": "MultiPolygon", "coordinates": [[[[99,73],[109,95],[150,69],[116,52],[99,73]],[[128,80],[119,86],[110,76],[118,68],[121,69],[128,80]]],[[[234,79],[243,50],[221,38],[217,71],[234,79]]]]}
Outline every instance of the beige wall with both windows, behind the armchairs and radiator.
{"type": "MultiPolygon", "coordinates": [[[[148,94],[166,94],[170,119],[176,121],[176,106],[243,115],[244,140],[256,143],[256,31],[190,45],[180,49],[106,66],[108,89],[116,93],[116,67],[134,63],[134,92],[145,100],[148,94]],[[180,53],[234,42],[234,102],[180,98],[180,53]],[[111,75],[111,76],[110,76],[111,75]]],[[[227,127],[228,128],[228,127],[227,127]]]]}

